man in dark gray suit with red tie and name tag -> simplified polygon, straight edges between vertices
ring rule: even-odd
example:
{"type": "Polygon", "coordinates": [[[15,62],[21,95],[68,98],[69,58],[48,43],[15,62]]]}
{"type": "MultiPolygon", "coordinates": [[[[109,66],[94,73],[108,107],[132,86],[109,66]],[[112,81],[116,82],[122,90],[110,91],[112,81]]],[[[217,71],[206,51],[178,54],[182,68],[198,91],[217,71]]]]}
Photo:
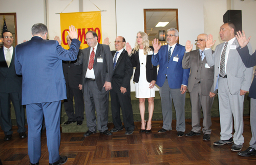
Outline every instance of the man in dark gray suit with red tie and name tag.
{"type": "Polygon", "coordinates": [[[82,90],[86,108],[87,127],[83,136],[96,133],[97,129],[105,135],[112,135],[108,130],[109,90],[113,75],[113,59],[109,45],[98,43],[98,36],[93,31],[86,33],[88,48],[82,50],[75,65],[83,65],[82,90]],[[97,124],[95,117],[97,112],[97,124]]]}

